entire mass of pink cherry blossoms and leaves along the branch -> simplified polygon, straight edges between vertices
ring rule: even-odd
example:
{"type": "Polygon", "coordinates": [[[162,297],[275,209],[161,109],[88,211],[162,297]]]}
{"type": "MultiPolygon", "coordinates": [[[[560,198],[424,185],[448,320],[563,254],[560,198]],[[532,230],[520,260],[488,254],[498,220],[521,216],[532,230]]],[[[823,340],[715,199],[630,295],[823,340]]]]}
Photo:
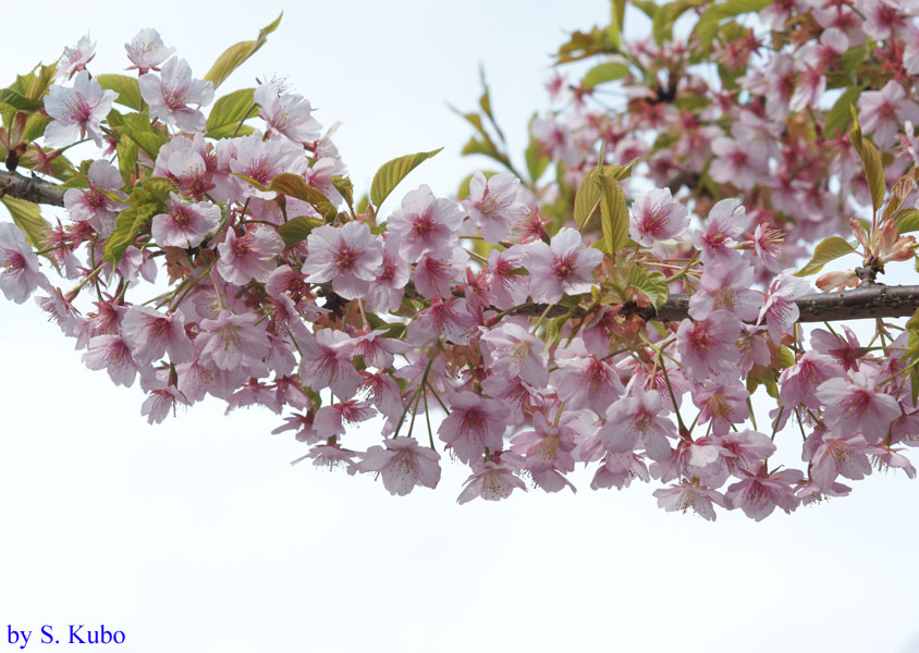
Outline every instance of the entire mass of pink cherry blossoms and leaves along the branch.
{"type": "MultiPolygon", "coordinates": [[[[228,412],[261,406],[279,416],[274,433],[304,443],[302,459],[379,476],[393,494],[438,485],[444,454],[468,467],[461,503],[574,491],[581,464],[592,489],[653,479],[661,507],[706,519],[715,506],[789,513],[874,467],[912,477],[915,336],[879,322],[862,344],[828,324],[808,346],[795,300],[810,285],[785,269],[842,227],[874,272],[914,256],[894,217],[856,220],[872,171],[851,138],[808,130],[838,58],[870,42],[881,51],[859,63],[899,59],[860,90],[860,130],[892,156],[889,182],[919,163],[907,14],[884,0],[776,3],[760,21],[804,32],[767,53],[755,28],[725,29],[712,47],[736,72],[730,88],[693,72],[698,41],[639,41],[617,54],[625,111],[589,109],[580,85],[569,111],[534,123],[554,182],[477,172],[458,200],[422,185],[397,206],[376,180],[373,199],[354,201],[334,127],[282,84],[250,89],[221,133],[215,83],[144,29],[125,45],[142,101],[122,113],[130,94],[91,75],[95,44],[82,39],[58,64],[34,145],[41,172],[66,182],[66,219],[40,245],[0,224],[0,291],[36,295],[87,367],[137,383],[151,423],[208,396],[228,412]],[[846,19],[856,11],[874,17],[846,19]],[[82,139],[105,152],[54,173],[82,139]],[[639,158],[658,187],[632,189],[639,158]],[[689,295],[688,317],[649,319],[671,293],[689,295]],[[775,407],[758,428],[763,396],[775,407]],[[797,452],[788,467],[780,446],[797,452]]],[[[911,193],[892,190],[889,206],[911,193]]]]}

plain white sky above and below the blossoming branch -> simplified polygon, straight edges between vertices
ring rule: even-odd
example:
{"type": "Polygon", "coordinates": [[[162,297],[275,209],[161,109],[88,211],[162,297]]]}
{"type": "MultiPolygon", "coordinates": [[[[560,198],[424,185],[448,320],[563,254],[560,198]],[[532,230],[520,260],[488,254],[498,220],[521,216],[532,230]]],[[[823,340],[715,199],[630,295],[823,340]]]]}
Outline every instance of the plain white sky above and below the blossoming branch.
{"type": "MultiPolygon", "coordinates": [[[[118,72],[147,26],[201,76],[282,9],[10,4],[4,85],[87,30],[90,70],[118,72]]],[[[439,194],[477,164],[444,102],[475,107],[479,62],[522,151],[547,54],[606,16],[602,0],[283,9],[218,96],[289,76],[323,125],[345,122],[336,143],[360,189],[383,161],[446,146],[401,187],[439,194]]],[[[449,461],[438,491],[397,498],[369,476],[289,467],[305,449],[270,434],[267,410],[224,418],[210,402],[148,427],[139,389],[87,370],[32,301],[0,300],[0,651],[15,650],[7,625],[42,624],[105,624],[143,652],[919,651],[919,484],[903,475],[760,523],[667,514],[651,488],[593,492],[585,473],[577,495],[457,506],[449,461]]]]}

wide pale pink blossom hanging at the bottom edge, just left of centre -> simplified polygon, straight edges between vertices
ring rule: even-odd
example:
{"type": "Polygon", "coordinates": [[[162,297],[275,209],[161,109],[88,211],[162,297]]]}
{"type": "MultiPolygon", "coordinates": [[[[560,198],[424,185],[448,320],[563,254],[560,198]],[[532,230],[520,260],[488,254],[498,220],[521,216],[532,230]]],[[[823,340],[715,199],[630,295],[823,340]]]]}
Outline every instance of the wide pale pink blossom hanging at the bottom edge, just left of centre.
{"type": "Polygon", "coordinates": [[[358,471],[376,471],[390,494],[405,496],[415,488],[437,488],[440,481],[440,455],[418,446],[414,438],[393,438],[383,446],[371,446],[356,465],[358,471]]]}

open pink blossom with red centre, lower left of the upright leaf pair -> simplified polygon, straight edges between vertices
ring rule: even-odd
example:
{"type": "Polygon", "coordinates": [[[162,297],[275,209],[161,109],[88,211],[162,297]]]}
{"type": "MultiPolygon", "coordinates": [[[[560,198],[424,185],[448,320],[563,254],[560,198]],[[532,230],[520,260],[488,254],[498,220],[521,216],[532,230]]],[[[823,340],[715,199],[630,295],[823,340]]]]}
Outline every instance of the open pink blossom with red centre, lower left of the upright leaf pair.
{"type": "Polygon", "coordinates": [[[602,260],[602,251],[585,248],[580,234],[568,227],[560,230],[550,245],[530,243],[526,247],[526,267],[534,301],[555,304],[566,294],[589,293],[593,269],[602,260]]]}

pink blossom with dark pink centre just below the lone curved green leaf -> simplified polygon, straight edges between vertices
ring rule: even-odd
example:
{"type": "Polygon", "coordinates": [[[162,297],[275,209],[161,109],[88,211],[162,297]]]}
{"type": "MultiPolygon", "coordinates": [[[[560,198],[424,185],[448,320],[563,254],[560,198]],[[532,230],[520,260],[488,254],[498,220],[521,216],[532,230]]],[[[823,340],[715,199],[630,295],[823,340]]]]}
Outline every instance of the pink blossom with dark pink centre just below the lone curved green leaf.
{"type": "Polygon", "coordinates": [[[400,237],[400,254],[415,263],[430,254],[450,256],[463,211],[450,199],[438,199],[428,186],[412,190],[387,220],[387,231],[400,237]]]}

